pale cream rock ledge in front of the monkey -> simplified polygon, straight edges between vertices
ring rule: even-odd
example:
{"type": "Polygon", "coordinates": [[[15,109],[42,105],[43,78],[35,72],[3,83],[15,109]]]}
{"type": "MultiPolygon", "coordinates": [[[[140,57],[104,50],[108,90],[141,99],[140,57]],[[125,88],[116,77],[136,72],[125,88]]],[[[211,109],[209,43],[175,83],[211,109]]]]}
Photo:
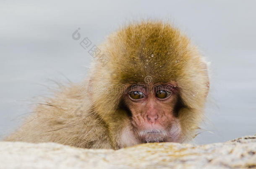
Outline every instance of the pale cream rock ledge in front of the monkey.
{"type": "Polygon", "coordinates": [[[256,135],[195,146],[148,143],[117,151],[56,143],[0,142],[0,169],[256,168],[256,135]]]}

